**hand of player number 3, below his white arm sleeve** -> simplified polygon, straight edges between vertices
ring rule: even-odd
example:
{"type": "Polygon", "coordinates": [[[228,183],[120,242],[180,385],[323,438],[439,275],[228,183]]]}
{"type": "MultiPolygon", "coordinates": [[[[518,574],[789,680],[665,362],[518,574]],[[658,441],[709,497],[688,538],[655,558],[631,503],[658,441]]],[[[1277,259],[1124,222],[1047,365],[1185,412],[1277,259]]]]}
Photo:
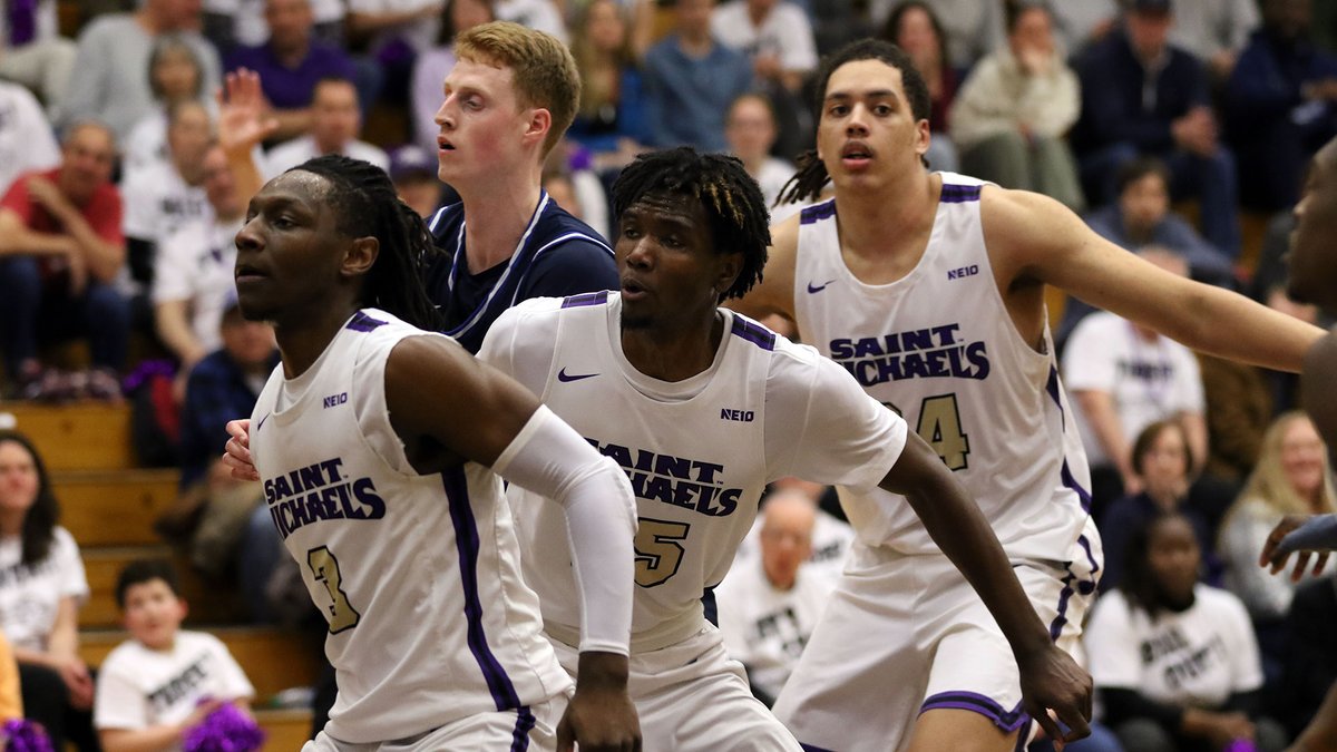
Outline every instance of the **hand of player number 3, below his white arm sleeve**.
{"type": "Polygon", "coordinates": [[[558,752],[640,752],[640,721],[627,696],[627,658],[580,653],[576,693],[558,724],[558,752]]]}

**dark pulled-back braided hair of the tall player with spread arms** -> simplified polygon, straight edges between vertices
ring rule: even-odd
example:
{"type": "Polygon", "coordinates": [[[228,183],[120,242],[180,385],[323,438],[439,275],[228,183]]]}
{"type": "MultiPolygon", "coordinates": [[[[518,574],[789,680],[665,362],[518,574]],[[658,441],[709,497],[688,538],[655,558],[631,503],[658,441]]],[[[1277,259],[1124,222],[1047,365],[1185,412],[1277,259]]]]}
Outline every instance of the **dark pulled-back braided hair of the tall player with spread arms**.
{"type": "MultiPolygon", "coordinates": [[[[927,120],[932,108],[932,99],[928,94],[928,84],[924,76],[915,68],[909,55],[904,50],[881,39],[862,39],[841,47],[836,52],[822,59],[822,67],[817,72],[814,122],[822,119],[822,103],[826,100],[826,84],[830,83],[832,74],[845,63],[858,60],[881,60],[901,72],[901,84],[905,88],[905,98],[910,103],[910,114],[915,120],[927,120]]],[[[928,166],[928,161],[924,161],[928,166]]],[[[817,157],[816,149],[798,155],[794,161],[798,169],[793,178],[785,183],[779,191],[778,203],[798,203],[801,201],[816,201],[826,187],[830,175],[826,174],[826,165],[817,157]]]]}

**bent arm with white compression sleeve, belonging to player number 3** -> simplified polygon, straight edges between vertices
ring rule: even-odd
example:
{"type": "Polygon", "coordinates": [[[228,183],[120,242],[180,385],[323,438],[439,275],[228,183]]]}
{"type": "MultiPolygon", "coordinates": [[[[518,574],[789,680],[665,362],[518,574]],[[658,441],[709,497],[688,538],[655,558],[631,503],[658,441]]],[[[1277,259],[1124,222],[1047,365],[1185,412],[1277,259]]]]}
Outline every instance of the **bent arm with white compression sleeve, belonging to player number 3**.
{"type": "Polygon", "coordinates": [[[627,694],[635,515],[626,475],[524,387],[444,337],[409,337],[385,365],[390,426],[420,472],[463,460],[562,504],[582,599],[576,693],[566,748],[640,749],[627,694]]]}

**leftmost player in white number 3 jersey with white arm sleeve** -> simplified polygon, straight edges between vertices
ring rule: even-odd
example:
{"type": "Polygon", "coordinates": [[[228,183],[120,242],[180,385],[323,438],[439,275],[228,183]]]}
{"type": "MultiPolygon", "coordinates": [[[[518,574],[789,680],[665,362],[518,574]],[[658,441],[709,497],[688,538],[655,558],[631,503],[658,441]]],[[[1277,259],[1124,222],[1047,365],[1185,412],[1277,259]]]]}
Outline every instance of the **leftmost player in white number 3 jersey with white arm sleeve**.
{"type": "Polygon", "coordinates": [[[242,312],[274,322],[283,359],[250,447],[338,681],[306,749],[639,749],[626,476],[515,381],[408,322],[435,324],[417,277],[431,238],[389,178],[306,162],[255,195],[237,246],[242,312]],[[571,531],[570,707],[493,472],[556,499],[571,531]]]}

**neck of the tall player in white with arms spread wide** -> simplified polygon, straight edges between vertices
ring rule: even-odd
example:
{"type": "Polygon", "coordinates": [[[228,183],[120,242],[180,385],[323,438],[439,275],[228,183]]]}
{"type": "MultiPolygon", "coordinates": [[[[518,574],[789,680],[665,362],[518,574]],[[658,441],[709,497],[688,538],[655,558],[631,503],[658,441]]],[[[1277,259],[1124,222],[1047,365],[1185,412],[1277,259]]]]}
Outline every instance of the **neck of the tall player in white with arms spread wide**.
{"type": "Polygon", "coordinates": [[[837,186],[841,246],[860,256],[898,253],[896,238],[932,227],[941,183],[927,170],[912,170],[878,190],[837,186]]]}

